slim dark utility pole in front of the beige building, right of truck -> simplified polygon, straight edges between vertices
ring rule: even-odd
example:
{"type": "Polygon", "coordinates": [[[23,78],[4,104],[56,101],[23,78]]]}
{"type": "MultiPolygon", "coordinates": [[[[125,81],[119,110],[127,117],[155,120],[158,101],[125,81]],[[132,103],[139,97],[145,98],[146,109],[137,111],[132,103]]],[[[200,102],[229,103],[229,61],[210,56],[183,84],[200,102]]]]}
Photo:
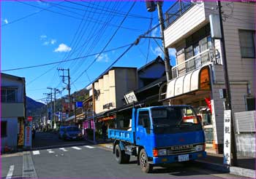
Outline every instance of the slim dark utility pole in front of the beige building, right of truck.
{"type": "MultiPolygon", "coordinates": [[[[222,33],[222,38],[220,39],[222,42],[222,63],[223,63],[223,72],[224,72],[224,79],[225,79],[225,88],[227,91],[226,95],[226,103],[225,103],[225,110],[231,110],[231,93],[230,93],[230,81],[228,78],[228,71],[227,71],[227,55],[226,55],[226,47],[225,47],[225,37],[223,31],[223,22],[222,22],[222,5],[221,2],[218,1],[218,9],[219,9],[219,23],[220,23],[220,30],[222,33]]],[[[230,115],[231,121],[231,151],[232,151],[232,158],[231,158],[231,166],[237,166],[237,156],[236,156],[236,135],[234,130],[234,122],[232,117],[232,112],[230,115]]]]}

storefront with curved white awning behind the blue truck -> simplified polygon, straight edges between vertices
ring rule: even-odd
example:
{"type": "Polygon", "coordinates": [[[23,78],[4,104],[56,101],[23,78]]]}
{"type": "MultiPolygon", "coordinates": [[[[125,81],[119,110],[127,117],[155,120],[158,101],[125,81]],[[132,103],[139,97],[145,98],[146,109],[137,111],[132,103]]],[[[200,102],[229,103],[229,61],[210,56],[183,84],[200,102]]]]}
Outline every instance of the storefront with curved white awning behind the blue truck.
{"type": "Polygon", "coordinates": [[[187,104],[195,108],[200,116],[200,121],[206,134],[206,144],[214,143],[214,126],[211,108],[211,78],[210,68],[205,66],[184,76],[169,81],[161,87],[160,96],[165,96],[163,101],[170,105],[187,104]],[[161,91],[162,90],[162,91],[161,91]],[[166,92],[164,91],[166,90],[166,92]]]}

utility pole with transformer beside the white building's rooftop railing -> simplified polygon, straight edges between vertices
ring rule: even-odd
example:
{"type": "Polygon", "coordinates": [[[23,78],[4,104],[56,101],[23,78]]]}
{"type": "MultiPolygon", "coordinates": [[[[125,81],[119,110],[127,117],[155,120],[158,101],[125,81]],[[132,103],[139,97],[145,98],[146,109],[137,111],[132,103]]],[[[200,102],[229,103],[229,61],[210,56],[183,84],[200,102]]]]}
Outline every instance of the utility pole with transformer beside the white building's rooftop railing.
{"type": "MultiPolygon", "coordinates": [[[[173,79],[172,73],[170,71],[170,57],[169,57],[169,52],[168,49],[165,48],[165,21],[162,15],[162,3],[163,1],[157,1],[157,11],[158,11],[158,20],[160,24],[160,30],[161,30],[161,36],[162,36],[162,47],[163,47],[163,52],[165,54],[165,73],[166,73],[166,79],[167,81],[170,81],[170,79],[173,79]]],[[[155,4],[154,1],[151,0],[146,0],[146,7],[148,12],[154,12],[155,10],[155,4]]]]}

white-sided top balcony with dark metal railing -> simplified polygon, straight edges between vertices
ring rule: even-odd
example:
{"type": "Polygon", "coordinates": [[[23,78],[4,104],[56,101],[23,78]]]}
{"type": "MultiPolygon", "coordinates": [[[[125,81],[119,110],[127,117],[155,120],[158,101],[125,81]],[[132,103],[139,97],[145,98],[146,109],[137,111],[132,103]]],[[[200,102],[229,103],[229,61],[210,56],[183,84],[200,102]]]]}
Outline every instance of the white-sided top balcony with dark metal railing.
{"type": "Polygon", "coordinates": [[[210,22],[209,15],[217,13],[211,7],[216,7],[216,2],[198,1],[195,4],[177,1],[173,4],[165,13],[165,47],[176,48],[184,44],[184,39],[207,25],[210,22]]]}

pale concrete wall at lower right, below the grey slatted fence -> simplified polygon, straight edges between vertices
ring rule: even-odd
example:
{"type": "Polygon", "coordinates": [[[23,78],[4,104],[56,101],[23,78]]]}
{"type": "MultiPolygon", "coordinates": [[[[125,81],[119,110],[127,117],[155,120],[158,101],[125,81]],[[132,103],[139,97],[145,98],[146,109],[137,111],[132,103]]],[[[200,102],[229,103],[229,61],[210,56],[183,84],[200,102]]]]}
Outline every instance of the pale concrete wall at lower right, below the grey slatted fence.
{"type": "Polygon", "coordinates": [[[255,134],[236,134],[238,155],[255,158],[255,147],[255,134]]]}

